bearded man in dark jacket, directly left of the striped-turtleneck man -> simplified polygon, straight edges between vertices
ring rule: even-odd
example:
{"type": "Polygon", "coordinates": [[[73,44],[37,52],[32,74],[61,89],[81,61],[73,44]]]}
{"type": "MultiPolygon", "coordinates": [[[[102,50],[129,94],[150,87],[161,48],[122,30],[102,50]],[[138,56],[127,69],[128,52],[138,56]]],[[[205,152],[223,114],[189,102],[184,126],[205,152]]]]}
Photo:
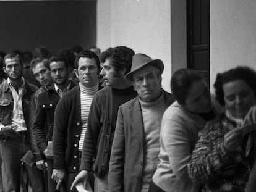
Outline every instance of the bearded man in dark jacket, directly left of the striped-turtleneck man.
{"type": "Polygon", "coordinates": [[[48,165],[48,191],[56,191],[56,183],[51,180],[53,154],[49,150],[53,136],[54,111],[62,95],[74,88],[75,84],[68,79],[68,64],[64,57],[51,57],[49,59],[49,67],[54,83],[48,90],[38,96],[33,131],[36,144],[41,154],[45,156],[48,165]]]}

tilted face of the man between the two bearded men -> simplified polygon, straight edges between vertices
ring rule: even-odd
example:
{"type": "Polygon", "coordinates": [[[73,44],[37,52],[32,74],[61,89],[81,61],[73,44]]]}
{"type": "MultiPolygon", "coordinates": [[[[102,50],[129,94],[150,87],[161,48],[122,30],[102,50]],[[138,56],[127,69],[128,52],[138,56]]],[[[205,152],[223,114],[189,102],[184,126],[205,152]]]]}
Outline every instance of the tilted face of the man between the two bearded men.
{"type": "Polygon", "coordinates": [[[35,65],[32,69],[33,74],[35,75],[36,80],[43,86],[49,86],[53,83],[53,79],[51,78],[50,70],[45,67],[43,62],[40,62],[35,65]]]}

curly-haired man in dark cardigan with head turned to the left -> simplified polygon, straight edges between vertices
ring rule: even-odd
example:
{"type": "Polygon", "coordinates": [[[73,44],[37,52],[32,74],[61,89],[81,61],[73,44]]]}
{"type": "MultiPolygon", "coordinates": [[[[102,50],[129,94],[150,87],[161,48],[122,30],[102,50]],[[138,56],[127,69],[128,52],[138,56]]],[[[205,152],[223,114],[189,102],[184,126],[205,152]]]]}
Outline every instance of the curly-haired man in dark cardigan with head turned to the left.
{"type": "Polygon", "coordinates": [[[100,61],[106,87],[95,94],[88,117],[87,132],[83,143],[80,173],[71,188],[83,182],[86,185],[91,170],[95,173],[95,192],[108,191],[108,170],[111,146],[118,108],[137,96],[130,81],[124,76],[130,72],[134,51],[125,46],[108,48],[100,61]]]}

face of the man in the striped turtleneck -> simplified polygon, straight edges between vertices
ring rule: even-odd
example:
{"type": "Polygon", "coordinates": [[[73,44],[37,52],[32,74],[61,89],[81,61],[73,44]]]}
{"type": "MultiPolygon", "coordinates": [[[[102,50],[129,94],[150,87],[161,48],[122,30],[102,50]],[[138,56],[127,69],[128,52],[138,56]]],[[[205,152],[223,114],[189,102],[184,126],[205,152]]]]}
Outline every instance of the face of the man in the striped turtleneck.
{"type": "Polygon", "coordinates": [[[85,87],[92,87],[98,84],[98,67],[94,58],[80,57],[78,69],[75,69],[75,73],[85,87]]]}

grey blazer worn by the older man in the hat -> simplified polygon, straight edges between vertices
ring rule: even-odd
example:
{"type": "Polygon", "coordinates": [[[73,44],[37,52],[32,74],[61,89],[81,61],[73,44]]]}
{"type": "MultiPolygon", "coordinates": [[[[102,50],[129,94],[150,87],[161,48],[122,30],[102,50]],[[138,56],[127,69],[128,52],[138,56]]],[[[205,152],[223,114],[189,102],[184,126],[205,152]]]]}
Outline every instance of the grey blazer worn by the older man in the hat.
{"type": "MultiPolygon", "coordinates": [[[[164,91],[165,109],[174,101],[172,94],[164,91]]],[[[138,96],[119,107],[109,165],[109,191],[142,190],[144,140],[143,118],[138,96]]]]}

